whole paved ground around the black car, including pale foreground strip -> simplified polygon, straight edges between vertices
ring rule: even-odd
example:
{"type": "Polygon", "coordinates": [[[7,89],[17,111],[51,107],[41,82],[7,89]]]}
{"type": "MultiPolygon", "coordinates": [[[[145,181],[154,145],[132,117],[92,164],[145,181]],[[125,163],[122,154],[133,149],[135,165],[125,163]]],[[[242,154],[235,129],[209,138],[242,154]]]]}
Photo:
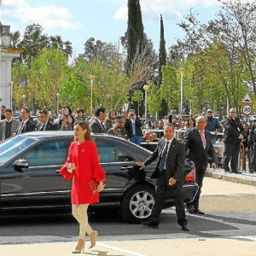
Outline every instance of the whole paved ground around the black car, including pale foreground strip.
{"type": "MultiPolygon", "coordinates": [[[[256,255],[255,186],[207,177],[201,210],[207,214],[188,215],[190,232],[180,230],[173,209],[163,212],[159,230],[126,224],[117,216],[90,216],[90,223],[102,236],[96,247],[84,254],[256,255]]],[[[71,255],[78,234],[78,225],[70,215],[2,218],[0,225],[1,256],[71,255]]]]}

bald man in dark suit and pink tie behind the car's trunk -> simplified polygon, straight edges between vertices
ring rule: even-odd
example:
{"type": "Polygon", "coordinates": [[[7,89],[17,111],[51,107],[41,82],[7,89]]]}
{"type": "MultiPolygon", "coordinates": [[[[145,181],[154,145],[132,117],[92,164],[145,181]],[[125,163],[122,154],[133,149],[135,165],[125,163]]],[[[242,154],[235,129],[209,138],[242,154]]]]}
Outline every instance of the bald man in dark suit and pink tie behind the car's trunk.
{"type": "Polygon", "coordinates": [[[211,133],[205,130],[207,120],[204,116],[196,119],[196,128],[183,137],[186,153],[195,164],[195,181],[198,184],[198,192],[194,201],[187,204],[190,213],[204,214],[199,210],[201,187],[208,165],[208,155],[212,158],[212,168],[216,169],[215,151],[212,146],[211,133]]]}

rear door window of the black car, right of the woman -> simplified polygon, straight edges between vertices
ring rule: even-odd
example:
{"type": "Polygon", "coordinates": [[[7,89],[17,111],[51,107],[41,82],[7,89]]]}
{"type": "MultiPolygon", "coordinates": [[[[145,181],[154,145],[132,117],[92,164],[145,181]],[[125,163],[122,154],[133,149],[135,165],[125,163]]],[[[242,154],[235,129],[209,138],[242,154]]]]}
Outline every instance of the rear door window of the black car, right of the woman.
{"type": "Polygon", "coordinates": [[[110,163],[116,161],[115,146],[103,140],[96,140],[96,147],[99,152],[101,163],[110,163]]]}

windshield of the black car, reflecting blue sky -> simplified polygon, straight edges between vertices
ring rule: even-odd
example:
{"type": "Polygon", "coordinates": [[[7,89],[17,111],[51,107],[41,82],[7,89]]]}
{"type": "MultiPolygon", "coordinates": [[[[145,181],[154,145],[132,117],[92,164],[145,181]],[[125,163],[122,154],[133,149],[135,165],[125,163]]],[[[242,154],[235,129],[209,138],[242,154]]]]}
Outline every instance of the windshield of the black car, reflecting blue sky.
{"type": "Polygon", "coordinates": [[[8,161],[15,154],[21,152],[24,148],[35,143],[35,140],[28,137],[13,137],[6,142],[0,144],[0,164],[8,161]]]}

